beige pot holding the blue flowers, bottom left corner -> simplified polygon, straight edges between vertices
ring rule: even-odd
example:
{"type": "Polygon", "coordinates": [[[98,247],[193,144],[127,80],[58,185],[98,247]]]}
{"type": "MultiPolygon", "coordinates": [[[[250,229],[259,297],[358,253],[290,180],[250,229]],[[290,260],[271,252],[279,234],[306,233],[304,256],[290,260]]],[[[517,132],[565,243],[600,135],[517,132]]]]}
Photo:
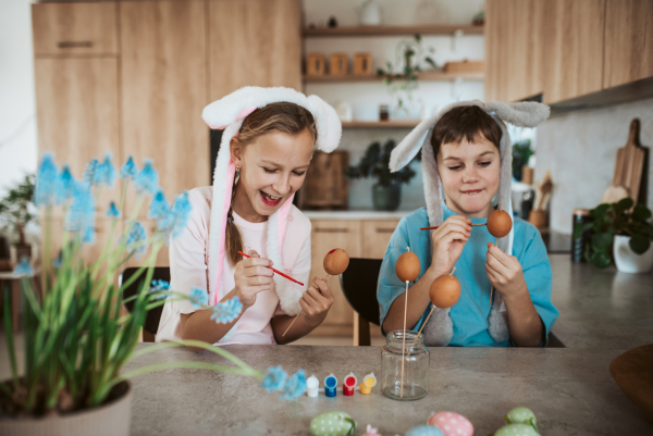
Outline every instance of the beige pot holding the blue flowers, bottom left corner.
{"type": "Polygon", "coordinates": [[[48,418],[0,419],[0,435],[127,436],[132,419],[132,387],[121,382],[112,400],[97,408],[48,418]]]}

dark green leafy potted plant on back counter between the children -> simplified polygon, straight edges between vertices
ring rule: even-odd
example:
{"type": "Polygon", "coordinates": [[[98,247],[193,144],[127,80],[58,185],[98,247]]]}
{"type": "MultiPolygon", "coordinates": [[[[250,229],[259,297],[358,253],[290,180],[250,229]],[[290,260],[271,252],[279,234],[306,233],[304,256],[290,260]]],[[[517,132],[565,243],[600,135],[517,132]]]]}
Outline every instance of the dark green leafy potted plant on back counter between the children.
{"type": "MultiPolygon", "coordinates": [[[[380,211],[394,211],[402,201],[402,183],[408,183],[415,177],[415,171],[410,165],[404,166],[396,173],[390,171],[390,153],[396,144],[393,139],[385,141],[383,147],[381,142],[372,142],[366,150],[365,155],[355,166],[349,166],[345,175],[349,178],[377,177],[377,183],[372,186],[372,200],[374,209],[380,211]]],[[[421,153],[416,159],[420,159],[421,153]]]]}

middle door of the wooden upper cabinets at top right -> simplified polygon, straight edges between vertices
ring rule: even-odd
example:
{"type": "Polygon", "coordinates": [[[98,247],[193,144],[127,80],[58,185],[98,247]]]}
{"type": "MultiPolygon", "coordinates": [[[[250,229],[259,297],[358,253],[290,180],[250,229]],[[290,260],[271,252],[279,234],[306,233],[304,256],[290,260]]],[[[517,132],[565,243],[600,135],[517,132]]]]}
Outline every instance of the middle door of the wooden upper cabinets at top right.
{"type": "Polygon", "coordinates": [[[602,89],[605,0],[549,0],[544,102],[556,103],[602,89]]]}

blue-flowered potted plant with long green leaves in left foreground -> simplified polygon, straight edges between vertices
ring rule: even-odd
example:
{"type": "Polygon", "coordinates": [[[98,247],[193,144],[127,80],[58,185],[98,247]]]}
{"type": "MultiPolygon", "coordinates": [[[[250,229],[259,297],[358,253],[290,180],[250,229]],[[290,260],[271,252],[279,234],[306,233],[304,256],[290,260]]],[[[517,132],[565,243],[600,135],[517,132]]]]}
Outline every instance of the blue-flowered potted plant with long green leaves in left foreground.
{"type": "Polygon", "coordinates": [[[294,399],[306,390],[303,370],[289,378],[278,368],[268,372],[255,370],[220,347],[199,341],[157,344],[134,352],[140,327],[148,310],[161,306],[167,298],[189,299],[194,306],[211,309],[215,322],[233,321],[242,310],[237,297],[208,306],[206,289],[190,295],[175,292],[165,282],[152,283],[157,252],[169,238],[175,238],[186,225],[192,207],[184,192],[171,207],[158,186],[157,171],[151,162],[137,170],[130,160],[122,167],[123,189],[120,204],[111,202],[99,210],[111,220],[110,235],[99,259],[86,262],[82,248],[94,244],[96,198],[110,188],[116,171],[108,157],[91,162],[85,180],[76,180],[67,170],[59,171],[51,157],[40,163],[35,188],[35,202],[45,209],[45,244],[42,250],[41,286],[27,276],[32,266],[23,259],[14,271],[24,290],[24,370],[19,372],[15,336],[12,331],[9,292],[4,294],[4,331],[7,356],[12,377],[0,382],[0,434],[2,435],[126,435],[130,432],[130,377],[171,368],[193,368],[256,377],[269,390],[280,390],[282,397],[294,399]],[[128,219],[121,220],[121,210],[130,185],[137,200],[128,219]],[[157,221],[158,229],[147,235],[136,221],[139,210],[150,198],[148,216],[157,221]],[[64,211],[64,227],[52,228],[51,209],[64,211]],[[119,229],[124,232],[116,234],[119,229]],[[56,259],[50,257],[52,232],[61,232],[63,248],[56,259]],[[113,236],[119,236],[114,238],[113,236]],[[118,242],[112,242],[118,239],[118,242]],[[116,285],[115,276],[132,257],[151,248],[144,266],[116,285]],[[135,296],[132,311],[121,313],[123,290],[145,277],[135,296]],[[121,369],[130,359],[158,350],[187,345],[207,349],[225,359],[225,364],[204,362],[163,362],[128,373],[121,369]]]}

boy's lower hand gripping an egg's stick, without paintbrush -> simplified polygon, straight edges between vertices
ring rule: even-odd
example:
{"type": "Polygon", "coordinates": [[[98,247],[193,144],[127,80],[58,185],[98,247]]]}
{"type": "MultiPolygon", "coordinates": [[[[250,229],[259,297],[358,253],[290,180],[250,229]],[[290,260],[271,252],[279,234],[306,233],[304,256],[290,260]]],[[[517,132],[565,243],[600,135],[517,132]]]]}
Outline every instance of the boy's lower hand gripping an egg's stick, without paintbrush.
{"type": "Polygon", "coordinates": [[[485,254],[485,272],[494,288],[501,292],[504,300],[528,294],[521,264],[514,256],[504,253],[492,242],[488,242],[485,254]]]}

